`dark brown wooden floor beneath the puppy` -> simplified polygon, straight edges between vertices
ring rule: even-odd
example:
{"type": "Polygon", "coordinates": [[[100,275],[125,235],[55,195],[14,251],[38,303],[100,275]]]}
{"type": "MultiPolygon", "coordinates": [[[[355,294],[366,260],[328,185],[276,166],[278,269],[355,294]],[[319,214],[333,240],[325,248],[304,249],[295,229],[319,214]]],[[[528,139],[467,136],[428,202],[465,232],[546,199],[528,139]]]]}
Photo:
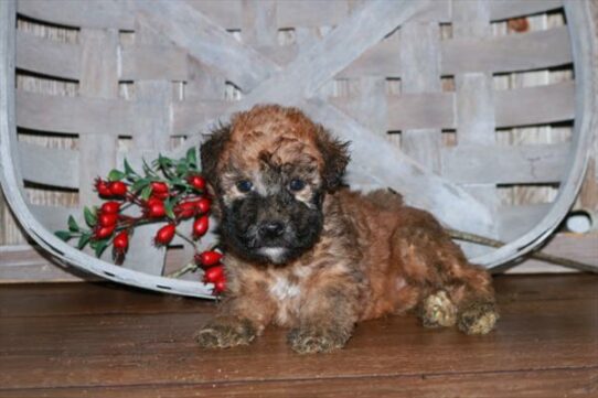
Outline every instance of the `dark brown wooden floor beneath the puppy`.
{"type": "Polygon", "coordinates": [[[488,336],[414,318],[299,356],[285,331],[200,351],[206,301],[114,284],[0,287],[0,397],[598,397],[598,277],[498,277],[488,336]]]}

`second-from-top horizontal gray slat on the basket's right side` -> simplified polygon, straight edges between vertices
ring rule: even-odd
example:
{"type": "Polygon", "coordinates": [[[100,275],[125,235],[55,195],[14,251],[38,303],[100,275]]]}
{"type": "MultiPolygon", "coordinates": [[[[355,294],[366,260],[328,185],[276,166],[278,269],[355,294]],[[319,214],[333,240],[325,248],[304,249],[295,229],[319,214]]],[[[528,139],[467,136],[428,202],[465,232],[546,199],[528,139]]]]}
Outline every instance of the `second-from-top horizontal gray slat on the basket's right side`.
{"type": "MultiPolygon", "coordinates": [[[[393,60],[397,49],[382,41],[338,77],[377,75],[401,77],[393,60]]],[[[441,42],[442,75],[463,72],[508,73],[547,68],[573,62],[567,26],[484,40],[451,39],[441,42]]]]}

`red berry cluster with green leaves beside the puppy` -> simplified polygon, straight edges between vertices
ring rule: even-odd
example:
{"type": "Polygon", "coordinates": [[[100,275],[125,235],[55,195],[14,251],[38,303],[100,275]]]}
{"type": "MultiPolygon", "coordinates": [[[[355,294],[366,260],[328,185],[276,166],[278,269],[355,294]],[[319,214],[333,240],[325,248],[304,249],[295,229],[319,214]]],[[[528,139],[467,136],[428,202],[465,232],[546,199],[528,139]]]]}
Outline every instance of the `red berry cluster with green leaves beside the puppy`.
{"type": "Polygon", "coordinates": [[[210,227],[211,198],[193,149],[178,161],[160,155],[152,166],[143,162],[143,175],[125,160],[124,171],[115,169],[107,180],[96,179],[95,189],[106,202],[99,207],[84,208],[88,228],[79,226],[71,216],[68,230],[58,230],[56,236],[65,241],[78,237],[77,247],[83,249],[89,245],[97,257],[111,246],[115,262],[121,263],[137,226],[163,224],[153,244],[168,246],[175,235],[180,236],[195,250],[193,269],[204,269],[204,282],[214,284],[214,293],[224,291],[223,255],[213,249],[200,251],[195,244],[210,227]],[[189,234],[180,232],[180,223],[190,218],[194,220],[189,234]]]}

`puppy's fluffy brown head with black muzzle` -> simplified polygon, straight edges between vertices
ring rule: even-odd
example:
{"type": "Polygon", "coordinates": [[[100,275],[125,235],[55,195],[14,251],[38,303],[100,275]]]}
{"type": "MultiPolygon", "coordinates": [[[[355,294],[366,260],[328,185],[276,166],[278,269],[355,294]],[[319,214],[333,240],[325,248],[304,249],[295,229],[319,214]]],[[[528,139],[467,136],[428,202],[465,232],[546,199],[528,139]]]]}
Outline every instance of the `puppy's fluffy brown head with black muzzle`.
{"type": "Polygon", "coordinates": [[[236,114],[201,147],[202,170],[218,202],[227,250],[284,265],[317,241],[322,203],[349,162],[334,140],[300,110],[275,105],[236,114]]]}

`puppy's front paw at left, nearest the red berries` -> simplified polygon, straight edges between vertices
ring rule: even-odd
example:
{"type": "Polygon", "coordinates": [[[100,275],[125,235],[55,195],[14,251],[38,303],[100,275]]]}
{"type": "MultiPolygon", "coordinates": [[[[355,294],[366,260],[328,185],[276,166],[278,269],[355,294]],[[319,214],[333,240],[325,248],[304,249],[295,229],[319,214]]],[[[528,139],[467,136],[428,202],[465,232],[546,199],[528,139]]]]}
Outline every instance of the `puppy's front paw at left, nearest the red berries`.
{"type": "Polygon", "coordinates": [[[220,318],[201,329],[195,338],[204,348],[228,348],[247,345],[256,336],[256,330],[248,320],[220,318]]]}

